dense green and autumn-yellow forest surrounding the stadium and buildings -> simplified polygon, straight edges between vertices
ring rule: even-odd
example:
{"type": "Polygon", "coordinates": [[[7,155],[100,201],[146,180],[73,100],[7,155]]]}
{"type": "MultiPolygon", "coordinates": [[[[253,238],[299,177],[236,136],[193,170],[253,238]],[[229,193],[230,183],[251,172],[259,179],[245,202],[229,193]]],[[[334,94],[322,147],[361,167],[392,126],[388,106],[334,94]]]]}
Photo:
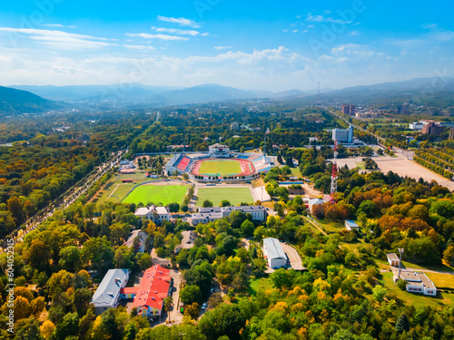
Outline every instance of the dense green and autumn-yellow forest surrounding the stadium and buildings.
{"type": "MultiPolygon", "coordinates": [[[[262,224],[254,223],[250,214],[234,211],[227,218],[195,227],[181,219],[156,225],[135,217],[134,204],[96,205],[84,197],[66,209],[57,209],[14,247],[14,334],[7,331],[7,285],[12,281],[6,273],[11,260],[6,252],[0,255],[0,337],[452,339],[454,306],[442,299],[439,304],[413,306],[410,299],[401,298],[384,284],[390,273],[383,270],[386,253],[398,248],[405,248],[406,259],[415,265],[449,268],[454,263],[452,193],[436,182],[342,168],[337,202],[318,206],[314,217],[325,224],[356,219],[361,232],[322,233],[307,219],[301,196],[290,199],[279,181],[288,178],[292,160],[298,160],[301,175],[311,179],[316,189],[328,192],[332,164],[326,160],[332,156],[331,148],[302,146],[310,144],[309,137],[328,144],[331,135],[326,130],[341,126],[340,122],[318,109],[278,109],[253,112],[239,107],[222,112],[201,107],[198,113],[177,117],[169,109],[157,122],[153,115],[143,113],[94,122],[75,120],[65,131],[36,132],[27,141],[1,148],[0,223],[5,231],[83,179],[110,152],[122,148],[129,147],[127,158],[134,153],[165,151],[168,145],[183,142],[194,151],[206,150],[211,141],[220,140],[232,149],[255,149],[264,146],[263,134],[270,128],[266,146],[278,146],[275,154],[287,165],[262,175],[277,212],[262,224]],[[251,130],[232,130],[234,121],[251,130]],[[261,130],[254,130],[258,128],[261,130]],[[233,137],[237,134],[241,137],[233,137]],[[123,245],[134,228],[147,235],[143,253],[123,245]],[[200,238],[193,248],[175,254],[184,230],[195,230],[200,238]],[[262,239],[268,237],[291,244],[306,270],[279,269],[266,274],[262,239]],[[248,248],[244,238],[250,239],[248,248]],[[183,322],[150,327],[146,318],[137,316],[137,310],[128,313],[123,307],[96,316],[90,301],[105,272],[128,268],[132,277],[138,277],[152,265],[152,248],[183,273],[183,322]],[[95,277],[89,274],[94,271],[95,277]],[[213,280],[224,294],[210,293],[213,280]],[[199,319],[207,299],[207,311],[199,319]]],[[[362,148],[355,152],[370,157],[371,151],[362,148]]],[[[341,157],[349,154],[340,149],[341,157]]],[[[405,283],[398,281],[398,286],[405,290],[405,283]]],[[[443,291],[452,295],[449,288],[443,291]]]]}

